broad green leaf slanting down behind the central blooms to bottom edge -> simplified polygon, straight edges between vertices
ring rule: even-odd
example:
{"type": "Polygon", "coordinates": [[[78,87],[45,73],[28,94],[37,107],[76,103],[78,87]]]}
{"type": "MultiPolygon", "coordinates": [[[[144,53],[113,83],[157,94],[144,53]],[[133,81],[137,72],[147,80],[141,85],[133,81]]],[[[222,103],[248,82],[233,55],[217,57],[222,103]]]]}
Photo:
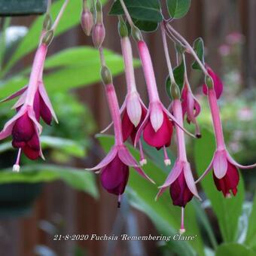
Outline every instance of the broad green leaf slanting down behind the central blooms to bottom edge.
{"type": "MultiPolygon", "coordinates": [[[[106,152],[114,145],[114,138],[112,136],[98,136],[98,139],[106,152]]],[[[127,146],[133,156],[139,160],[139,151],[133,148],[132,145],[127,146]]],[[[130,203],[145,212],[154,224],[156,224],[156,227],[159,228],[160,233],[166,236],[172,236],[177,233],[180,227],[181,209],[172,205],[168,191],[159,200],[154,201],[154,197],[158,191],[157,186],[163,184],[167,174],[150,159],[148,159],[148,164],[143,166],[143,169],[156,182],[156,185],[146,181],[133,169],[130,169],[129,188],[126,190],[130,197],[130,203]]],[[[186,234],[197,235],[197,239],[190,242],[169,241],[169,243],[173,245],[176,251],[182,251],[182,255],[204,255],[203,242],[197,225],[194,207],[190,204],[185,209],[185,224],[187,228],[186,234]]]]}

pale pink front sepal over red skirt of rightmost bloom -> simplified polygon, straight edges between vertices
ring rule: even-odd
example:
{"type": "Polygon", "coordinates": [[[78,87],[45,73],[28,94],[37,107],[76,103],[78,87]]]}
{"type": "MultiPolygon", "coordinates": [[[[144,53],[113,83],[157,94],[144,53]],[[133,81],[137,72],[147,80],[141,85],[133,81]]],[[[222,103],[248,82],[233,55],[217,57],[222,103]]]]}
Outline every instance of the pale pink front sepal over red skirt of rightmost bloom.
{"type": "Polygon", "coordinates": [[[223,178],[227,172],[227,157],[225,151],[216,151],[213,157],[213,171],[217,178],[223,178]]]}

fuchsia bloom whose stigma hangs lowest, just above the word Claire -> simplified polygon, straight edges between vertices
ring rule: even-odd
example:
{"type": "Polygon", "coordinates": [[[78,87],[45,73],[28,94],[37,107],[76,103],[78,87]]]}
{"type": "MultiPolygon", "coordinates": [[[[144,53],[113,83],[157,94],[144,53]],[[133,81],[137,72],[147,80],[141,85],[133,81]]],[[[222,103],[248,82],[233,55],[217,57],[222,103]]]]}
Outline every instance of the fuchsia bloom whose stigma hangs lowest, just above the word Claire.
{"type": "Polygon", "coordinates": [[[176,139],[178,144],[178,158],[169,173],[166,181],[157,194],[156,200],[161,194],[169,187],[169,193],[172,197],[172,203],[174,206],[181,207],[181,229],[180,233],[184,233],[184,207],[195,196],[200,200],[197,192],[197,187],[190,169],[190,163],[187,162],[187,154],[184,142],[183,127],[183,114],[181,109],[181,101],[174,99],[172,102],[173,114],[180,123],[181,127],[175,124],[176,139]]]}

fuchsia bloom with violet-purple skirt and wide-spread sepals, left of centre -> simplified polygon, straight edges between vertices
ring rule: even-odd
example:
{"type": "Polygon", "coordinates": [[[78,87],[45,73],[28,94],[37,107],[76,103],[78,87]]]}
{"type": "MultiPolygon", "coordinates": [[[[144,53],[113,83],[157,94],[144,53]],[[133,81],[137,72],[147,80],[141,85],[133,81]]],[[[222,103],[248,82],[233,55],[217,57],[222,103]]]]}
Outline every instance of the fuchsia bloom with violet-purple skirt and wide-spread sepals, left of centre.
{"type": "Polygon", "coordinates": [[[108,107],[114,124],[114,146],[107,156],[95,167],[88,170],[100,169],[102,186],[111,194],[118,195],[118,206],[120,196],[123,194],[128,178],[129,167],[133,167],[139,175],[154,183],[148,175],[140,168],[130,151],[123,144],[122,124],[117,96],[111,80],[111,73],[106,67],[102,67],[102,80],[105,84],[105,93],[108,99],[108,107]]]}

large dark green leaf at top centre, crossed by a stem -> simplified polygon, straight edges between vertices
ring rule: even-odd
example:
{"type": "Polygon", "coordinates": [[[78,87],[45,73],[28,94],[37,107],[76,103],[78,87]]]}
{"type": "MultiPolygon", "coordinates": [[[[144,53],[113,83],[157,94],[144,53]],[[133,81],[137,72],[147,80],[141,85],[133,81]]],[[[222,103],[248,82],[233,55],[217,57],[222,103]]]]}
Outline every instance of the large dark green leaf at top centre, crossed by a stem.
{"type": "MultiPolygon", "coordinates": [[[[133,23],[147,32],[157,29],[158,23],[163,20],[158,0],[124,0],[126,7],[133,18],[133,23]]],[[[119,1],[114,2],[111,7],[110,15],[120,15],[123,8],[119,1]]]]}

